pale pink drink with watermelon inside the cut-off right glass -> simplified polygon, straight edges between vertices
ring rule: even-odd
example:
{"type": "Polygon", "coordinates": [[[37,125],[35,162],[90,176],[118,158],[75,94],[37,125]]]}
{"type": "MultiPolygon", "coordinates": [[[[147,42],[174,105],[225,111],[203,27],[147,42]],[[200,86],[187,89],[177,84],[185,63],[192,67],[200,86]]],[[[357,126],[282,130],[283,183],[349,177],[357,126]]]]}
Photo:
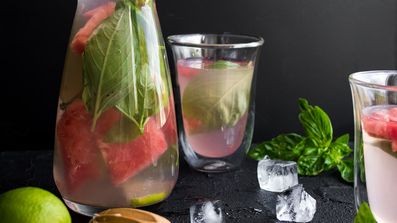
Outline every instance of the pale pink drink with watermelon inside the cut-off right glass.
{"type": "Polygon", "coordinates": [[[397,105],[366,107],[361,120],[368,202],[377,222],[395,222],[397,105]]]}

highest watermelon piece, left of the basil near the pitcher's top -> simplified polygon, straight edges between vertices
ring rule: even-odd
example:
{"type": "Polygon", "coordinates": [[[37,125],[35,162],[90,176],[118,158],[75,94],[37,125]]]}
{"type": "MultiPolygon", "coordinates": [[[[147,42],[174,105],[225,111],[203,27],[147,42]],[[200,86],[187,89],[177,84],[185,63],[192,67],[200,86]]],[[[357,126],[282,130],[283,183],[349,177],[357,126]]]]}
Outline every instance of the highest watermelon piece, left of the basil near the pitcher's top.
{"type": "Polygon", "coordinates": [[[74,36],[74,39],[70,43],[70,48],[77,55],[81,55],[86,48],[86,42],[90,37],[91,33],[94,31],[95,27],[103,19],[107,18],[111,13],[115,12],[115,2],[108,2],[96,9],[88,11],[83,14],[83,17],[88,19],[86,25],[82,27],[74,36]]]}

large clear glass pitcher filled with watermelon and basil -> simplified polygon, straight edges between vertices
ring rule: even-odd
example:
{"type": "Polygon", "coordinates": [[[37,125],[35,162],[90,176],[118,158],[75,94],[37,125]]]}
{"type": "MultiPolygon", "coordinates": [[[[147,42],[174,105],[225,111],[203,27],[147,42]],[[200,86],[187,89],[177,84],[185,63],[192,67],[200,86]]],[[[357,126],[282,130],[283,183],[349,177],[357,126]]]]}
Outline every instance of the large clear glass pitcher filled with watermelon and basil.
{"type": "Polygon", "coordinates": [[[54,180],[74,211],[169,196],[178,140],[154,0],[78,0],[55,128],[54,180]]]}

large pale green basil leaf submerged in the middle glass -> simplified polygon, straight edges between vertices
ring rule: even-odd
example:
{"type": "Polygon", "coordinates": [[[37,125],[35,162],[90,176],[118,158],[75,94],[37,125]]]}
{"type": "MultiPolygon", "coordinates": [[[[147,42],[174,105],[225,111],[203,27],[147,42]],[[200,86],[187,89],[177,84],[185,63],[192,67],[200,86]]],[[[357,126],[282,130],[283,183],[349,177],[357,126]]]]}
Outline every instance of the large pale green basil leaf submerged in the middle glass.
{"type": "Polygon", "coordinates": [[[192,77],[182,96],[184,118],[200,125],[189,134],[234,126],[246,113],[253,67],[204,72],[192,77]]]}

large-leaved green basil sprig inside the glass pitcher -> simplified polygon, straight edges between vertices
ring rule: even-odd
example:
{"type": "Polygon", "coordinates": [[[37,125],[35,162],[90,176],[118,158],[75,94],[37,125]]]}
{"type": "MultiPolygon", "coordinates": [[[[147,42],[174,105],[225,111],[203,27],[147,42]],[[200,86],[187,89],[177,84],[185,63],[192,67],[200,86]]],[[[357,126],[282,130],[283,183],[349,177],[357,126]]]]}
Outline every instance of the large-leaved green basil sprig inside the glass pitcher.
{"type": "Polygon", "coordinates": [[[166,103],[161,78],[167,69],[164,49],[157,38],[153,1],[148,2],[119,0],[115,12],[92,32],[82,53],[82,99],[93,116],[92,131],[99,116],[111,107],[128,118],[112,128],[105,141],[123,134],[116,142],[125,143],[144,134],[148,119],[166,103]]]}

